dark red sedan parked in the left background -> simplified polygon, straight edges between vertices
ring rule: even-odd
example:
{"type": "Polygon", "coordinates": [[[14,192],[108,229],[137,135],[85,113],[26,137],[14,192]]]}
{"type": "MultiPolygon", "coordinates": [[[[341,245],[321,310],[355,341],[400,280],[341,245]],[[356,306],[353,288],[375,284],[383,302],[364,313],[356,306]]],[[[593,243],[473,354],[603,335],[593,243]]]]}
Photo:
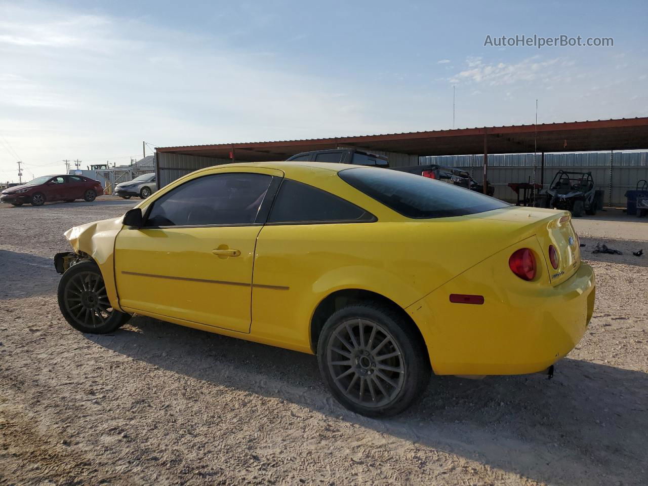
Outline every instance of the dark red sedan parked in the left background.
{"type": "Polygon", "coordinates": [[[83,199],[92,202],[104,193],[99,181],[84,176],[42,176],[23,185],[5,189],[0,202],[14,206],[31,204],[41,206],[46,201],[73,202],[83,199]]]}

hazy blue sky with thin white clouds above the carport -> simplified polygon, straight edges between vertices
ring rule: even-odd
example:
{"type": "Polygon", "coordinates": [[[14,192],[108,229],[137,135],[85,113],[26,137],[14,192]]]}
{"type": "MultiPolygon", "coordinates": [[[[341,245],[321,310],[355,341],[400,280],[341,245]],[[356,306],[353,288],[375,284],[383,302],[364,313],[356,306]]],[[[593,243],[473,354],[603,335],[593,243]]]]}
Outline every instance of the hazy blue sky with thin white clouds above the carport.
{"type": "Polygon", "coordinates": [[[0,181],[154,146],[648,116],[648,2],[0,0],[0,181]],[[608,47],[484,45],[502,36],[608,47]]]}

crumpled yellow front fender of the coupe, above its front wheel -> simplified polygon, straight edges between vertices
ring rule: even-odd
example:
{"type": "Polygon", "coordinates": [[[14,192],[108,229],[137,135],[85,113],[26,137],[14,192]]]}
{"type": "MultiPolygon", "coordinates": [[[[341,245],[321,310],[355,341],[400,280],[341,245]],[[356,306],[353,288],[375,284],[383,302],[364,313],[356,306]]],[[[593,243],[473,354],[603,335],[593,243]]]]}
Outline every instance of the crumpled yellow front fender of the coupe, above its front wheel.
{"type": "Polygon", "coordinates": [[[119,307],[115,284],[115,238],[122,229],[122,216],[75,226],[65,231],[65,238],[76,254],[86,253],[97,263],[106,284],[106,294],[113,308],[119,307]]]}

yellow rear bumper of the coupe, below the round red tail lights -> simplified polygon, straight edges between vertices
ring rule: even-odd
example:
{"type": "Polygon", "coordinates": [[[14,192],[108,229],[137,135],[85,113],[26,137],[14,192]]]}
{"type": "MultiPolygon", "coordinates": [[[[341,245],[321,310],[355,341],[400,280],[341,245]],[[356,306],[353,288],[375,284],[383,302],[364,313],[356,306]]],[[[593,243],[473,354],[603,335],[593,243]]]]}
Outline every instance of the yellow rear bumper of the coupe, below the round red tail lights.
{"type": "Polygon", "coordinates": [[[572,351],[592,318],[595,277],[587,264],[550,286],[521,281],[508,268],[493,272],[489,260],[406,309],[437,375],[543,371],[572,351]],[[450,303],[453,293],[483,295],[484,303],[450,303]]]}

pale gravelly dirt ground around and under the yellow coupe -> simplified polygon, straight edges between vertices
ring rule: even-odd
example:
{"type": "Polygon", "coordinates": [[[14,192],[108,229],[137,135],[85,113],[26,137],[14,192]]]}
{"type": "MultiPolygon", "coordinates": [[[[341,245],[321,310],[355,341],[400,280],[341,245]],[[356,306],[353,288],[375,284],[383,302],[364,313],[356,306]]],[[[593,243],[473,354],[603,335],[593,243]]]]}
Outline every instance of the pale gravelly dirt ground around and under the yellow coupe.
{"type": "Polygon", "coordinates": [[[69,327],[51,257],[133,204],[103,199],[0,207],[0,484],[648,483],[647,219],[575,223],[596,310],[553,380],[433,378],[380,421],[334,402],[312,356],[141,317],[69,327]]]}

